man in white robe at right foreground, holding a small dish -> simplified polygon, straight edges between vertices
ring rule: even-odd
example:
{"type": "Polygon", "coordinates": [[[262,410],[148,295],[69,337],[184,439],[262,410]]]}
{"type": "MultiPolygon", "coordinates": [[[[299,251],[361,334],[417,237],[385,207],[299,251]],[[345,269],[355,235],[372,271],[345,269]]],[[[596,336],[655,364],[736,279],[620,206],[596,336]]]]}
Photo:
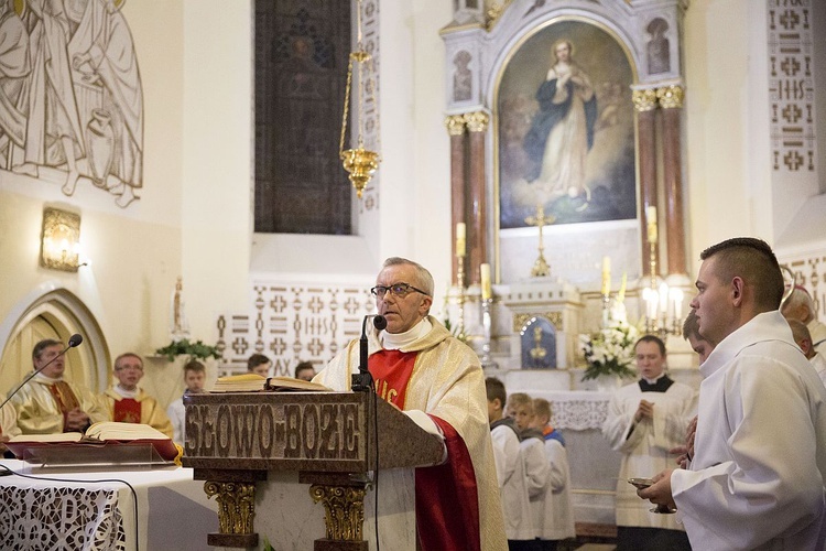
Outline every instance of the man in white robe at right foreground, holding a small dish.
{"type": "Polygon", "coordinates": [[[718,344],[700,366],[694,460],[638,494],[676,506],[694,549],[824,549],[826,389],[778,311],[778,260],[754,238],[700,259],[692,307],[718,344]]]}

